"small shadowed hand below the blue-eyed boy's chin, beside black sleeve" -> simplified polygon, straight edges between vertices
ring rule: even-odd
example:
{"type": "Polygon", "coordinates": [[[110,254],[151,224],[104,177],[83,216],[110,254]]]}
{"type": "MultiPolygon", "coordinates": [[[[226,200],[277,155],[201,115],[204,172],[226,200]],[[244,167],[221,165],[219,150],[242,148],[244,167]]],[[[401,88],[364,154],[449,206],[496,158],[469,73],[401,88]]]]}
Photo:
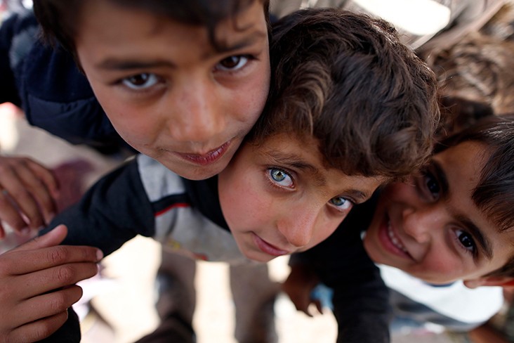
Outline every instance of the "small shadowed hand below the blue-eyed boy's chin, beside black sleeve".
{"type": "Polygon", "coordinates": [[[314,271],[307,266],[296,264],[291,266],[291,273],[282,283],[282,290],[289,295],[291,302],[298,311],[302,311],[307,316],[312,317],[309,311],[310,304],[315,304],[317,311],[323,313],[319,300],[313,300],[310,293],[319,283],[314,271]]]}

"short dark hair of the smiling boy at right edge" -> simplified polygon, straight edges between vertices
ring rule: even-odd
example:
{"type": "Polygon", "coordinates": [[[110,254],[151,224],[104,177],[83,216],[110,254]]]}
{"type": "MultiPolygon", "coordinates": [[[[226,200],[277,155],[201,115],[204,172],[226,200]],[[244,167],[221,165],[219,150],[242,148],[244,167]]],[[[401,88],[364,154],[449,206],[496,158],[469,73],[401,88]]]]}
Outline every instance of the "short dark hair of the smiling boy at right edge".
{"type": "MultiPolygon", "coordinates": [[[[447,138],[435,147],[438,153],[465,141],[482,143],[488,158],[471,198],[487,218],[498,226],[498,232],[514,228],[514,116],[490,116],[461,133],[447,138]]],[[[514,276],[513,257],[502,268],[487,276],[514,276]]]]}

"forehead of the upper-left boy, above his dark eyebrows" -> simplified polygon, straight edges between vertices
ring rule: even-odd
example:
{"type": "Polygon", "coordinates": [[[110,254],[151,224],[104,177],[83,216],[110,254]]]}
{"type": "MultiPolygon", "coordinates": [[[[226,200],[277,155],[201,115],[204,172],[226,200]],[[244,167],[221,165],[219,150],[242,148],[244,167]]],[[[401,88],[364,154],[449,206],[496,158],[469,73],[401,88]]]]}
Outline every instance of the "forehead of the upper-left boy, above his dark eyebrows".
{"type": "Polygon", "coordinates": [[[90,40],[93,41],[98,39],[99,43],[103,41],[128,43],[143,38],[149,39],[164,32],[172,43],[173,39],[180,38],[183,41],[192,39],[192,34],[184,37],[184,32],[191,31],[200,32],[199,35],[202,36],[195,37],[192,43],[202,41],[202,44],[212,48],[213,45],[218,44],[222,47],[237,44],[237,40],[242,39],[244,35],[258,34],[262,37],[268,34],[263,3],[258,0],[244,6],[235,15],[229,15],[228,18],[220,19],[218,22],[211,23],[208,18],[204,18],[204,21],[204,25],[192,24],[187,22],[195,22],[195,20],[175,19],[173,15],[159,15],[157,11],[121,6],[114,1],[85,1],[78,18],[76,40],[77,44],[84,41],[85,37],[91,37],[90,40]],[[209,25],[215,26],[213,32],[209,31],[211,29],[209,25]]]}

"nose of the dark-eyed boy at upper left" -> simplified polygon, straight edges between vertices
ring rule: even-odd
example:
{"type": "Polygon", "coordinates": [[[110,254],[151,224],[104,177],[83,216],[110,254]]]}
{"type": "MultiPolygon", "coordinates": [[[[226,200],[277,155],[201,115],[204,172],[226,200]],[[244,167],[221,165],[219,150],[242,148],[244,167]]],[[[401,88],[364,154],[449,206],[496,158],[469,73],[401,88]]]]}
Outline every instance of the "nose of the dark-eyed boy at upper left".
{"type": "MultiPolygon", "coordinates": [[[[208,77],[190,75],[177,82],[167,101],[168,127],[177,141],[208,144],[225,131],[223,98],[208,77]]],[[[218,142],[216,143],[223,143],[218,142]]],[[[215,148],[209,146],[209,148],[215,148]]]]}

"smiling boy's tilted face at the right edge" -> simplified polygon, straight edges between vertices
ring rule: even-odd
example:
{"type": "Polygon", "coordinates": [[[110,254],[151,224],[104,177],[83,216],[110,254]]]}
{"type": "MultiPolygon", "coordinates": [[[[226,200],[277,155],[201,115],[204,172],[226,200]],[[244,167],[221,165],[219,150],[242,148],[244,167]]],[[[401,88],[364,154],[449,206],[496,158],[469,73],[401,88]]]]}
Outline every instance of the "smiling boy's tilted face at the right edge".
{"type": "Polygon", "coordinates": [[[484,280],[506,264],[514,233],[498,233],[471,199],[484,154],[480,143],[460,143],[420,176],[387,186],[364,238],[371,259],[437,284],[484,280]]]}

